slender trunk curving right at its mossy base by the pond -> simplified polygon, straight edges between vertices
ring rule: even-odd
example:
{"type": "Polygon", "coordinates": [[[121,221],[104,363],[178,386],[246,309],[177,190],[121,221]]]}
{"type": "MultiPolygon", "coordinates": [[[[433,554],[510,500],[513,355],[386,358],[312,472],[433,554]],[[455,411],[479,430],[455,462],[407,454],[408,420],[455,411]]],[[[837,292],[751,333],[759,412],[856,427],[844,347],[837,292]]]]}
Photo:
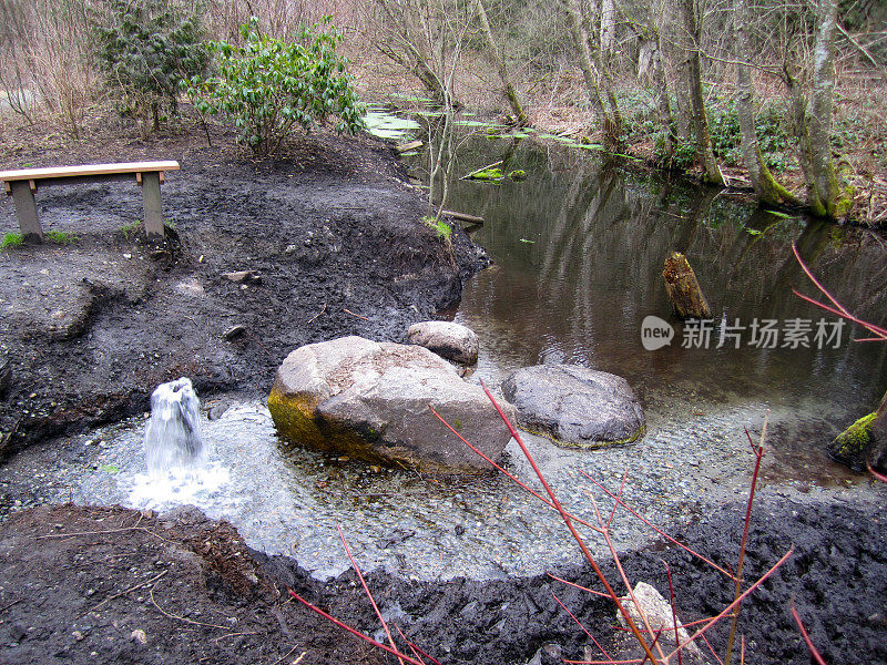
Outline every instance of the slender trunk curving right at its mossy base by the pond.
{"type": "Polygon", "coordinates": [[[735,0],[733,31],[736,55],[736,114],[742,132],[743,161],[748,170],[752,187],[761,203],[768,205],[797,204],[798,200],[773,177],[761,155],[761,145],[755,132],[754,85],[750,66],[744,60],[752,53],[747,32],[751,21],[748,0],[735,0]]]}

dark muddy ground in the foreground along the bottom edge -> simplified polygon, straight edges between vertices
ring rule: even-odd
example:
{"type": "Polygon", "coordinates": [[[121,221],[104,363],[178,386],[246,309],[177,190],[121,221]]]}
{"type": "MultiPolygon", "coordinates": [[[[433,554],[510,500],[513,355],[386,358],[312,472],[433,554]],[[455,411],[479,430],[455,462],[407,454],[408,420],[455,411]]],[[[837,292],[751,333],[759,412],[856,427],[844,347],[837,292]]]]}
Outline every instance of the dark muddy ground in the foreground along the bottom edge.
{"type": "MultiPolygon", "coordinates": [[[[728,505],[681,533],[715,562],[735,561],[742,507],[728,505]]],[[[746,579],[794,553],[745,603],[746,661],[810,662],[792,603],[832,665],[887,663],[887,524],[846,505],[764,499],[750,536],[746,579]]],[[[359,557],[359,553],[358,553],[359,557]]],[[[732,583],[664,544],[622,557],[633,581],[667,596],[671,567],[684,621],[712,616],[732,583]]],[[[603,570],[611,581],[611,564],[603,570]]],[[[587,567],[559,576],[600,589],[587,567]]],[[[249,551],[225,522],[196,509],[157,516],[120,508],[22,511],[0,526],[0,661],[3,663],[378,663],[356,638],[292,601],[289,589],[378,637],[353,572],[320,583],[285,557],[249,551]]],[[[609,601],[547,576],[415,583],[368,577],[384,615],[441,663],[601,659],[563,604],[610,656],[633,655],[609,601]]],[[[723,653],[726,624],[708,635],[723,653]]],[[[394,661],[390,661],[394,662],[394,661]]],[[[689,661],[687,661],[689,662],[689,661]]],[[[707,662],[715,662],[708,656],[707,662]]]]}

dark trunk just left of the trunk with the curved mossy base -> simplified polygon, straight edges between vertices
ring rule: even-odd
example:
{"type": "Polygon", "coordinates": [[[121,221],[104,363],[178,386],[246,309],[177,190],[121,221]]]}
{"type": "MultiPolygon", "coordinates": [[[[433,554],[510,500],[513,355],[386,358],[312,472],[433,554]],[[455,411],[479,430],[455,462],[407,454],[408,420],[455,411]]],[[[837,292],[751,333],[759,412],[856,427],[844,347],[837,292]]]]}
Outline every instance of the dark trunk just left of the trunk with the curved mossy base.
{"type": "Polygon", "coordinates": [[[687,58],[685,84],[691,103],[693,134],[696,140],[696,160],[702,166],[703,182],[723,186],[724,176],[721,175],[712,152],[712,136],[708,133],[708,119],[705,115],[705,100],[702,95],[702,64],[699,51],[701,21],[696,17],[694,0],[679,0],[677,6],[687,58]]]}

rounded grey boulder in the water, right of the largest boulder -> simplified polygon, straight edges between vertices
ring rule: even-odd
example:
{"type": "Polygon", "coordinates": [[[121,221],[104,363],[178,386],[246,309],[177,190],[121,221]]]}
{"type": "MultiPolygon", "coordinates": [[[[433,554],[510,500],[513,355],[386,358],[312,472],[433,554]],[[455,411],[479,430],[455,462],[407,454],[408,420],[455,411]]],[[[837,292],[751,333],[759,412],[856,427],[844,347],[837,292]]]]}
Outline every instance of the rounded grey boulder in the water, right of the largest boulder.
{"type": "Polygon", "coordinates": [[[625,379],[578,365],[524,367],[502,382],[502,393],[521,428],[571,448],[630,443],[646,428],[625,379]]]}

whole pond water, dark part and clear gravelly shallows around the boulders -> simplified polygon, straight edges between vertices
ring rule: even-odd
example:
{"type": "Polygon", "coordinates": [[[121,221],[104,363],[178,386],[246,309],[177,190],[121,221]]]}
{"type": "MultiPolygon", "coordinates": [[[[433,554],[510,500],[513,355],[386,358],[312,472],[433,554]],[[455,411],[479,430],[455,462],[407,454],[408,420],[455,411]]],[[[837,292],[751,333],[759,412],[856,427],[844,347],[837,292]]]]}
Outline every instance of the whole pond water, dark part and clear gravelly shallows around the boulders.
{"type": "MultiPolygon", "coordinates": [[[[834,319],[792,295],[793,286],[813,293],[792,256],[794,241],[847,307],[884,324],[883,241],[606,168],[575,149],[488,140],[466,145],[469,156],[455,173],[504,158],[528,174],[522,183],[452,184],[449,206],[485,217],[473,237],[496,262],[469,280],[449,313],[480,336],[469,380],[496,389],[521,366],[577,362],[624,376],[645,408],[648,433],[632,446],[578,451],[526,437],[570,510],[593,521],[594,501],[605,507],[608,499],[584,474],[612,490],[624,474],[626,500],[654,521],[674,526],[704,519],[711,503],[746,493],[752,456],[745,428],[757,436],[767,412],[764,478],[771,490],[807,498],[873,491],[822,450],[887,388],[887,345],[853,342],[859,331],[845,327],[828,348],[817,348],[813,332],[809,348],[782,348],[782,338],[776,348],[758,348],[748,344],[747,329],[738,331],[740,348],[731,337],[715,348],[718,323],[708,348],[683,348],[685,328],[669,315],[661,270],[671,250],[684,252],[717,320],[726,317],[733,332],[755,319],[772,319],[779,330],[792,319],[815,328],[820,318],[834,319]],[[641,323],[649,315],[674,327],[671,345],[644,349],[641,323]]],[[[0,468],[0,480],[51,479],[41,480],[42,500],[157,510],[194,503],[231,521],[251,546],[294,556],[318,577],[348,566],[336,522],[364,569],[386,566],[410,577],[533,574],[578,560],[559,518],[501,477],[373,472],[289,449],[261,403],[234,403],[204,422],[210,466],[200,482],[149,491],[145,424],[146,418],[135,418],[72,439],[62,461],[29,449],[0,468]]],[[[530,479],[513,442],[507,453],[507,466],[530,479]]],[[[738,520],[736,526],[737,536],[738,520]]],[[[620,549],[657,538],[624,513],[613,533],[620,549]]],[[[590,546],[604,551],[593,539],[590,546]]]]}

